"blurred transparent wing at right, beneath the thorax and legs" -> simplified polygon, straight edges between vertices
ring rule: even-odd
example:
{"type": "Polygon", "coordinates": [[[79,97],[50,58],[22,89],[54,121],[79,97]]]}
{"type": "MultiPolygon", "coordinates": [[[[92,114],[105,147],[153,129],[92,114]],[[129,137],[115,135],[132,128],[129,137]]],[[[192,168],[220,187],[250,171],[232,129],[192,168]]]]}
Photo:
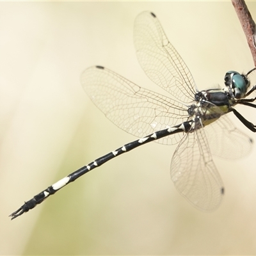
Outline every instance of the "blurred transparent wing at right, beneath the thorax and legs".
{"type": "Polygon", "coordinates": [[[239,159],[252,150],[252,138],[237,129],[227,115],[207,125],[204,130],[214,156],[239,159]]]}

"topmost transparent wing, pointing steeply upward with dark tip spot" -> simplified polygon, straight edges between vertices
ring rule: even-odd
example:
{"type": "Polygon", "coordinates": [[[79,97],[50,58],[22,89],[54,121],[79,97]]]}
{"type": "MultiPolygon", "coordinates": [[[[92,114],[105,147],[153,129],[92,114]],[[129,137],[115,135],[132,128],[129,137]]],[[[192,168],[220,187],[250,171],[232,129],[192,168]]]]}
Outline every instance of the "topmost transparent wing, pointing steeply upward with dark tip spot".
{"type": "Polygon", "coordinates": [[[135,20],[134,44],[147,76],[176,99],[188,103],[195,97],[193,77],[164,34],[156,15],[143,12],[135,20]]]}

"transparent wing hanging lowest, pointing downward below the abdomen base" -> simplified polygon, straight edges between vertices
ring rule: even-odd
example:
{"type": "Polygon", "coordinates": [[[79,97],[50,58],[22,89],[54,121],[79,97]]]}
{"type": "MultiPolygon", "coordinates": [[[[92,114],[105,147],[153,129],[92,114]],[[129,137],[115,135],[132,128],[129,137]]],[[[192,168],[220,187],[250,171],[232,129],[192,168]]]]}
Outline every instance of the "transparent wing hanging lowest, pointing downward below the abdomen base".
{"type": "Polygon", "coordinates": [[[171,177],[181,195],[196,208],[216,209],[223,198],[223,183],[209,151],[204,129],[184,135],[175,150],[171,177]]]}

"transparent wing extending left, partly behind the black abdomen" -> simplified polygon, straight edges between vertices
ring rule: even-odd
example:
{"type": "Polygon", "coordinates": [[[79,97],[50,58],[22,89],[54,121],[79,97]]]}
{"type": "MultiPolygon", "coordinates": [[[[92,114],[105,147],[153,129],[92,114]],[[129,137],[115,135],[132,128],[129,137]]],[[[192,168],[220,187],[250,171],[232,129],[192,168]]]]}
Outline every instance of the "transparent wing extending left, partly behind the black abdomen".
{"type": "MultiPolygon", "coordinates": [[[[188,120],[188,108],[180,102],[141,88],[107,68],[84,70],[81,83],[111,122],[135,136],[142,138],[188,120]]],[[[181,138],[177,133],[157,142],[172,145],[181,138]]]]}

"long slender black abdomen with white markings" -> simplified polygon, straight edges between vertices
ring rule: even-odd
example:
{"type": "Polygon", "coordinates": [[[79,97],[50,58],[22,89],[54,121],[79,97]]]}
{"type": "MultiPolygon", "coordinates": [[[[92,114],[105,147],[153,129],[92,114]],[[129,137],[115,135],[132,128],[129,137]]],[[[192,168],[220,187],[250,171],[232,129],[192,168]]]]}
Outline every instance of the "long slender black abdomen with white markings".
{"type": "Polygon", "coordinates": [[[36,205],[41,204],[46,198],[50,195],[53,195],[58,190],[66,186],[68,183],[73,182],[77,178],[81,177],[87,172],[90,172],[94,168],[99,167],[100,165],[108,162],[109,160],[113,159],[116,156],[124,154],[125,152],[129,152],[130,150],[140,147],[141,145],[148,143],[150,141],[159,140],[165,136],[169,136],[175,134],[177,132],[188,132],[191,129],[193,121],[184,122],[179,125],[175,125],[170,128],[163,129],[161,131],[154,132],[148,136],[145,136],[139,140],[132,141],[130,143],[125,144],[123,147],[117,148],[116,150],[109,152],[108,154],[95,159],[92,163],[83,166],[82,168],[76,170],[73,173],[70,173],[67,177],[58,180],[58,182],[52,184],[49,188],[45,189],[44,191],[38,193],[38,195],[34,196],[28,202],[25,202],[22,207],[20,207],[17,211],[10,214],[12,220],[23,214],[24,212],[28,212],[29,210],[33,209],[36,205]]]}

